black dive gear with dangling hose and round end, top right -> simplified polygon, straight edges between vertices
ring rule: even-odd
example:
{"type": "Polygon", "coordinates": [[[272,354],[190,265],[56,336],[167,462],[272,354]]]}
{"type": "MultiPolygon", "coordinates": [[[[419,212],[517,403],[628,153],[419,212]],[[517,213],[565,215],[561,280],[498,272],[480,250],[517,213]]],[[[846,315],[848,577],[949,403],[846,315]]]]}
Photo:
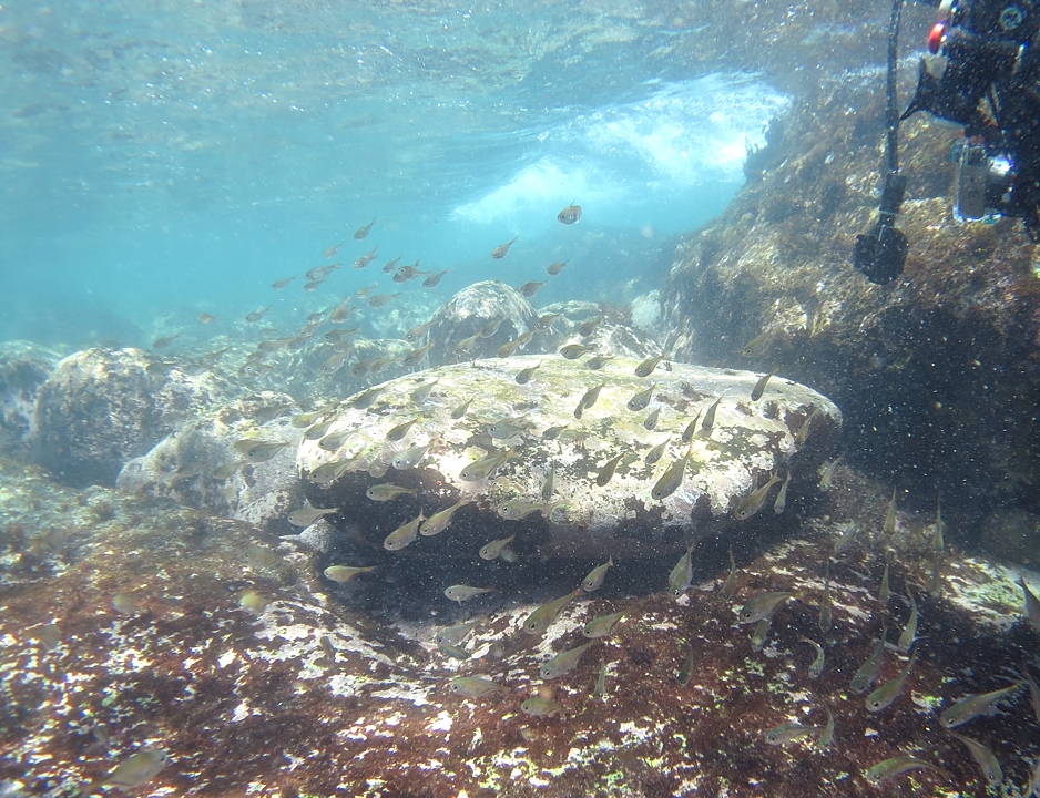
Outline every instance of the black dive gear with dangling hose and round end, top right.
{"type": "MultiPolygon", "coordinates": [[[[927,0],[921,0],[927,2],[927,0]]],[[[903,0],[894,0],[888,41],[887,172],[878,219],[856,237],[853,263],[871,283],[895,280],[909,248],[895,226],[906,192],[899,122],[918,111],[963,127],[957,152],[955,217],[1022,219],[1040,241],[1040,27],[1038,0],[941,0],[921,58],[917,91],[896,109],[896,53],[903,0]]],[[[936,4],[929,2],[928,4],[936,4]]]]}

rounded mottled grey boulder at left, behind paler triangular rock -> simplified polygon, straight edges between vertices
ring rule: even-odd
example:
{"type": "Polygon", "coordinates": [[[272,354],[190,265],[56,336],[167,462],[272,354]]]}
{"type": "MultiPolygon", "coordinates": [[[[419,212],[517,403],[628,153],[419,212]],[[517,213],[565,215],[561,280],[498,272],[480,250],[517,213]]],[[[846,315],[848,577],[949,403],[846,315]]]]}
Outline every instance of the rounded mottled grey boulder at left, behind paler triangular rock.
{"type": "Polygon", "coordinates": [[[210,372],[185,374],[141,349],[79,351],[40,389],[34,456],[69,484],[114,484],[128,460],[233,392],[210,372]]]}

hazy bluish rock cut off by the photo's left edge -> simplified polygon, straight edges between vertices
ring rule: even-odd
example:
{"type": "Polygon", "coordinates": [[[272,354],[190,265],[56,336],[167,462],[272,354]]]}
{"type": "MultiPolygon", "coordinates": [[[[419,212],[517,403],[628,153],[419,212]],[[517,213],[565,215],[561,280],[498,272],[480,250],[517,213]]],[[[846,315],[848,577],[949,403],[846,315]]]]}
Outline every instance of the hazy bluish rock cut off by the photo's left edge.
{"type": "Polygon", "coordinates": [[[28,446],[35,431],[37,396],[60,359],[39,344],[0,344],[0,450],[28,446]]]}

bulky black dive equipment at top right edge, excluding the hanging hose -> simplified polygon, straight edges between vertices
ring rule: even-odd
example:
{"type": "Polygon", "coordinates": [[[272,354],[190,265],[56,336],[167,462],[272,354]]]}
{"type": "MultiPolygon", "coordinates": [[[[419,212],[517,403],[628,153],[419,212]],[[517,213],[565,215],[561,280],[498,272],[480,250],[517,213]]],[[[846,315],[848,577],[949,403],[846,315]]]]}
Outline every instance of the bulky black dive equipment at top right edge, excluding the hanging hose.
{"type": "Polygon", "coordinates": [[[917,111],[963,127],[956,155],[958,219],[1020,217],[1040,236],[1040,9],[1029,0],[942,0],[928,34],[917,111]]]}

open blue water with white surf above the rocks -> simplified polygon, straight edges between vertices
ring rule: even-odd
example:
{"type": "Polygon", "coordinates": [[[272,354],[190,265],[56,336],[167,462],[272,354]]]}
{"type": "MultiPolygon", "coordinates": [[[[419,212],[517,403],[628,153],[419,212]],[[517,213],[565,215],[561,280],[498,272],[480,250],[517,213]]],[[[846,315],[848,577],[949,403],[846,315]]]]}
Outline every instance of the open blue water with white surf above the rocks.
{"type": "Polygon", "coordinates": [[[788,102],[756,75],[654,54],[675,35],[552,3],[6,4],[0,291],[19,301],[0,339],[204,338],[269,304],[292,325],[389,288],[378,269],[397,255],[451,268],[439,300],[557,259],[570,266],[541,303],[653,289],[788,102]],[[583,217],[565,227],[571,202],[583,217]],[[346,268],[318,291],[272,291],[340,241],[346,268]]]}

